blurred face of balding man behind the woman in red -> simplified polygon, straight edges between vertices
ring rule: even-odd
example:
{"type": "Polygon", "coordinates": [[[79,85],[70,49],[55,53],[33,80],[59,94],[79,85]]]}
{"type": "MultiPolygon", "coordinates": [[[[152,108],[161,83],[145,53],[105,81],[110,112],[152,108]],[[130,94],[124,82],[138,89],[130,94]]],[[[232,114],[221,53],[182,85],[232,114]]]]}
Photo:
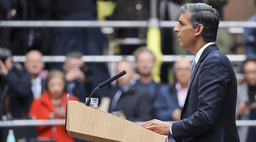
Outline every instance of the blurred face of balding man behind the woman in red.
{"type": "Polygon", "coordinates": [[[42,55],[37,51],[32,51],[28,53],[27,60],[25,62],[25,68],[29,74],[38,75],[40,71],[44,69],[42,55]]]}

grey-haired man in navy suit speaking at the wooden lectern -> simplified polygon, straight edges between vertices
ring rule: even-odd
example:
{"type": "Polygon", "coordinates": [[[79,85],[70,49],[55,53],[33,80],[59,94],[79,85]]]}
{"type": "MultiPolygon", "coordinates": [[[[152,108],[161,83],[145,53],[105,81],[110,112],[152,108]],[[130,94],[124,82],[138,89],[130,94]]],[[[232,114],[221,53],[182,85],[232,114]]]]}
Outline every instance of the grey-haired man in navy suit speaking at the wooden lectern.
{"type": "Polygon", "coordinates": [[[216,41],[219,13],[207,4],[185,4],[173,29],[180,47],[196,55],[181,120],[165,123],[151,120],[141,127],[177,142],[239,142],[236,129],[236,76],[216,41]]]}

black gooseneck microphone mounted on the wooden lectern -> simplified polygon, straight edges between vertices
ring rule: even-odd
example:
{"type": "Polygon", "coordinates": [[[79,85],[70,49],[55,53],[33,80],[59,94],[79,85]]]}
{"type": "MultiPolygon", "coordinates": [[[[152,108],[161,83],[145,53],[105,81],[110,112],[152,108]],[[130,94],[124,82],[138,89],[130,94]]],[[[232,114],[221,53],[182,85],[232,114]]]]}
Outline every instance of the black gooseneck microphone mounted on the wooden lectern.
{"type": "Polygon", "coordinates": [[[116,74],[115,76],[113,76],[113,77],[109,78],[108,80],[106,80],[106,81],[100,83],[100,84],[92,91],[92,93],[91,93],[91,95],[90,95],[90,97],[89,97],[89,99],[87,100],[87,102],[86,102],[85,105],[86,105],[86,106],[89,106],[89,105],[90,105],[92,94],[93,94],[97,89],[102,88],[102,87],[108,85],[108,84],[111,83],[112,81],[116,80],[117,78],[120,78],[121,76],[123,76],[123,75],[125,75],[125,74],[126,74],[125,71],[121,71],[121,72],[119,72],[118,74],[116,74]]]}

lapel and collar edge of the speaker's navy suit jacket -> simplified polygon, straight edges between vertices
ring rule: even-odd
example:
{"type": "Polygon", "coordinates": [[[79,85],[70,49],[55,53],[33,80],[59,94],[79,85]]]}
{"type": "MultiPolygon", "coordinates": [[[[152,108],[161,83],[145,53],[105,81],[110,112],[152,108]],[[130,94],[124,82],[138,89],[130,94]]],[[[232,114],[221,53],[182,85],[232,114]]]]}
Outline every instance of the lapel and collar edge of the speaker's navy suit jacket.
{"type": "MultiPolygon", "coordinates": [[[[194,79],[194,77],[195,77],[196,71],[197,71],[197,69],[199,68],[200,63],[201,63],[202,61],[204,61],[205,57],[210,53],[210,51],[212,51],[212,50],[214,50],[214,49],[218,49],[218,47],[217,47],[216,44],[211,44],[211,45],[209,45],[208,47],[206,47],[206,48],[204,49],[202,55],[200,56],[200,58],[199,58],[199,60],[198,60],[198,62],[197,62],[197,64],[196,64],[196,66],[195,66],[195,71],[193,71],[193,74],[192,74],[191,79],[190,79],[190,81],[189,81],[189,84],[188,84],[188,92],[189,92],[189,89],[190,89],[190,87],[191,87],[191,83],[192,83],[192,81],[193,81],[193,79],[194,79]]],[[[218,49],[218,50],[219,50],[219,49],[218,49]]],[[[186,105],[186,103],[187,103],[187,101],[188,101],[188,92],[187,92],[187,96],[186,96],[186,101],[185,101],[184,107],[185,107],[185,105],[186,105]]],[[[183,107],[183,108],[184,108],[184,107],[183,107]]],[[[182,112],[181,112],[181,119],[182,119],[182,114],[183,114],[183,109],[182,109],[182,112]]]]}

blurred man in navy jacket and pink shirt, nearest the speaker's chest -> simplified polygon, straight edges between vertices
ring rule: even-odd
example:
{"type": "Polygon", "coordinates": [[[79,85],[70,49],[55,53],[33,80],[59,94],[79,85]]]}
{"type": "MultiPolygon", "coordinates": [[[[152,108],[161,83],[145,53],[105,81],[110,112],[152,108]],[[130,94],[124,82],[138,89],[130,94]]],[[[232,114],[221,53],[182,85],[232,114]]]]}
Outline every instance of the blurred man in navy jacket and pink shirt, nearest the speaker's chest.
{"type": "MultiPolygon", "coordinates": [[[[162,121],[179,121],[184,106],[191,71],[191,61],[181,57],[174,62],[173,69],[176,81],[166,84],[157,90],[153,104],[153,115],[162,121]]],[[[169,138],[169,137],[168,137],[169,138]]]]}

